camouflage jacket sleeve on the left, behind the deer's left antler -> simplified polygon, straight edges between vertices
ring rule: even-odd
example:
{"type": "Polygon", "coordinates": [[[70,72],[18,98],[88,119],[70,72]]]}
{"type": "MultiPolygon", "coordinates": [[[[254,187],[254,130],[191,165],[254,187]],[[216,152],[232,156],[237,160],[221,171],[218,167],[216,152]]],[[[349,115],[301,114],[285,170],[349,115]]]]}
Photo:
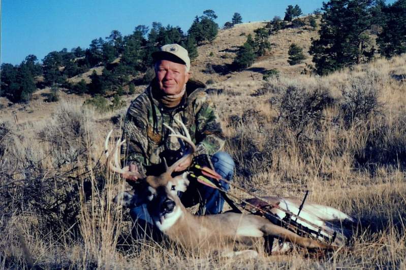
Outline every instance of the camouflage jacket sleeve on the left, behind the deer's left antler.
{"type": "Polygon", "coordinates": [[[140,173],[146,173],[147,112],[141,99],[133,101],[127,111],[122,130],[122,140],[126,140],[126,143],[121,147],[120,158],[123,165],[136,164],[140,173]]]}

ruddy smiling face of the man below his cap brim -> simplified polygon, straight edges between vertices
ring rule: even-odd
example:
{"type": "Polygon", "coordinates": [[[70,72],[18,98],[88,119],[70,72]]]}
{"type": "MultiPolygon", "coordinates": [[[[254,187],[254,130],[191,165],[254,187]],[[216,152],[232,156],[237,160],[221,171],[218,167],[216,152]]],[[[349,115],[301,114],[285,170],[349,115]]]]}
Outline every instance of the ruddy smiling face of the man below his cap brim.
{"type": "Polygon", "coordinates": [[[169,60],[158,61],[155,73],[160,89],[167,95],[179,94],[189,80],[185,65],[169,60]]]}

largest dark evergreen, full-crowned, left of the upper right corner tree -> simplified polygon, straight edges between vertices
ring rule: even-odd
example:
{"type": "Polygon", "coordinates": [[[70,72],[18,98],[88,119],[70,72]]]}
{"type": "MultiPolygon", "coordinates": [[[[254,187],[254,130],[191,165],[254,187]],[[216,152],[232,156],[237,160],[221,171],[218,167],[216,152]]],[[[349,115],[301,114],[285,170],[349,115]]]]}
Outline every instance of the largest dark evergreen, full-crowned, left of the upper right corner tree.
{"type": "Polygon", "coordinates": [[[370,27],[371,4],[372,0],[330,0],[323,4],[320,38],[309,50],[318,74],[362,61],[367,51],[364,33],[370,27]]]}

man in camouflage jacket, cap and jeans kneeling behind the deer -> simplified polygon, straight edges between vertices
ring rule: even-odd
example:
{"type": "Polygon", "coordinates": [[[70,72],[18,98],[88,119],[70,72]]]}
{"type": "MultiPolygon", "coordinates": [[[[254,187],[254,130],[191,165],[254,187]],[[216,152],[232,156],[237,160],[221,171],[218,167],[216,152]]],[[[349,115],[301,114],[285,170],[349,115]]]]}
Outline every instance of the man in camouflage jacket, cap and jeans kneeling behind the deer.
{"type": "MultiPolygon", "coordinates": [[[[189,81],[190,59],[188,51],[177,44],[162,46],[152,54],[155,78],[130,105],[124,121],[121,152],[126,170],[146,175],[160,175],[163,159],[168,166],[178,160],[180,144],[170,137],[171,131],[163,124],[182,133],[177,123],[181,121],[189,130],[197,146],[193,158],[209,157],[214,170],[224,179],[231,180],[234,170],[232,158],[220,150],[224,146],[224,135],[214,111],[213,104],[204,92],[204,84],[189,81]]],[[[210,163],[210,162],[209,162],[210,163]]],[[[175,169],[181,172],[190,167],[192,158],[175,169]]],[[[136,178],[123,175],[130,184],[136,185],[136,178]]],[[[223,183],[225,188],[229,188],[223,183]]],[[[218,190],[193,183],[181,195],[185,207],[200,203],[198,214],[216,214],[222,211],[224,199],[218,190]]],[[[131,209],[132,219],[141,226],[153,226],[146,205],[131,209]]]]}

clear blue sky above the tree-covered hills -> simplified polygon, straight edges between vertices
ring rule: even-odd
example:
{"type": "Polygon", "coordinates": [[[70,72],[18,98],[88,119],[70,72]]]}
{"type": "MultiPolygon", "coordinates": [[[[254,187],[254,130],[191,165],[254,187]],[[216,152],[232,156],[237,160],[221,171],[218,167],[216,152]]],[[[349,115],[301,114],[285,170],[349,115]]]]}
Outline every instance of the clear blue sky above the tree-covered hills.
{"type": "Polygon", "coordinates": [[[29,54],[42,60],[51,51],[88,48],[94,38],[111,30],[132,33],[153,21],[180,26],[186,32],[196,15],[212,9],[220,27],[234,12],[243,22],[283,18],[288,5],[303,14],[322,7],[322,0],[0,0],[0,62],[19,64],[29,54]]]}

